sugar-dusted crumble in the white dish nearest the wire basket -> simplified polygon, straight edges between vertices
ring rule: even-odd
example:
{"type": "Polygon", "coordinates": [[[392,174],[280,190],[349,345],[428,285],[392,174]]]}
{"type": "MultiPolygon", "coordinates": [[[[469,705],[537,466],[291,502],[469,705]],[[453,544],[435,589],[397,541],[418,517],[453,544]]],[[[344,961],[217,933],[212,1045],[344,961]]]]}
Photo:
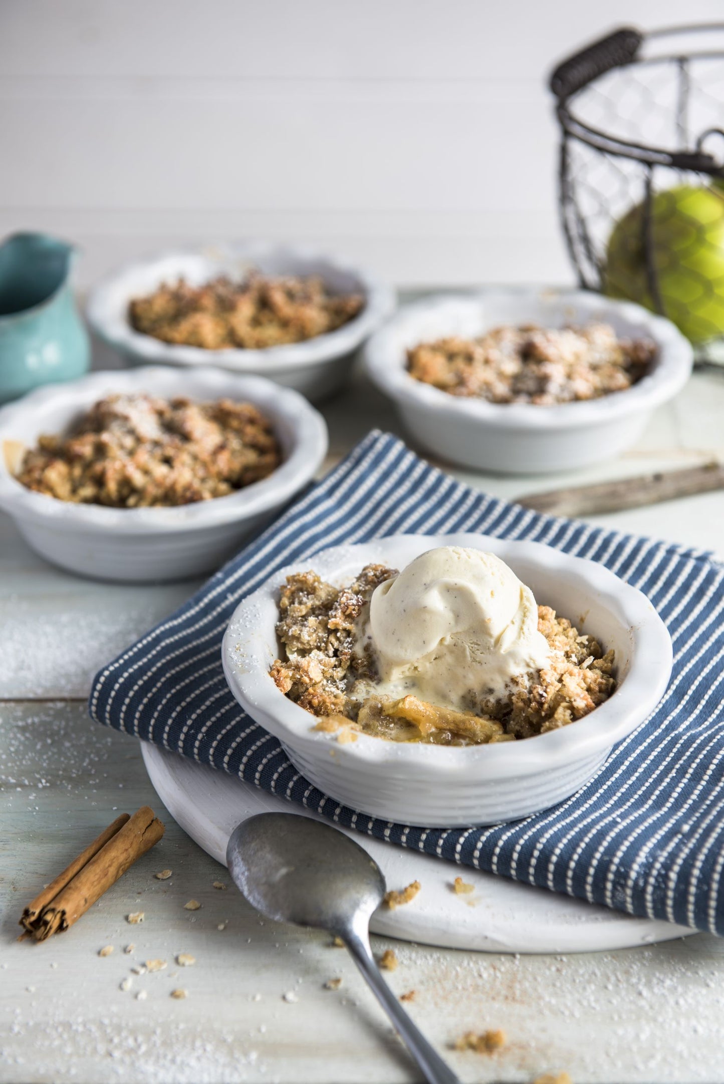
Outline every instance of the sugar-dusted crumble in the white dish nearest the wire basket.
{"type": "Polygon", "coordinates": [[[610,324],[494,327],[408,351],[408,371],[451,396],[550,406],[625,391],[649,371],[650,339],[619,339],[610,324]]]}

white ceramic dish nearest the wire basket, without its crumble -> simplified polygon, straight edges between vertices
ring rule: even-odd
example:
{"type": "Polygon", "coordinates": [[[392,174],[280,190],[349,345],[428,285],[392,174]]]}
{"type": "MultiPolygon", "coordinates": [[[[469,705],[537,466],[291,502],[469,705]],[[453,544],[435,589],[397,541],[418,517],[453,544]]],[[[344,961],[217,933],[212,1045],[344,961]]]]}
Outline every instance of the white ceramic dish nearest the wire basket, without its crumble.
{"type": "Polygon", "coordinates": [[[367,341],[364,360],[424,448],[480,470],[545,474],[611,459],[634,443],[651,411],[688,379],[693,352],[669,320],[630,301],[582,291],[507,289],[404,306],[367,341]],[[560,327],[591,321],[610,323],[619,336],[652,338],[658,347],[652,371],[626,391],[554,406],[451,396],[406,371],[408,349],[443,336],[477,336],[500,324],[560,327]]]}

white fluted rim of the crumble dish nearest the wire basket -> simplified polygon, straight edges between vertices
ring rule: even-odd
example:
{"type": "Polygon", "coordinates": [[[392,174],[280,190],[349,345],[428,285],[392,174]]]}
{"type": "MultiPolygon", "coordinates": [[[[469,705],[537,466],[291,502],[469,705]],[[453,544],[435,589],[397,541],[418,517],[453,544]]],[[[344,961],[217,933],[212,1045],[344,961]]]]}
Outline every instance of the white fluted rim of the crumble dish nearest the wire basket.
{"type": "MultiPolygon", "coordinates": [[[[517,321],[525,320],[521,312],[517,321]]],[[[496,323],[500,320],[486,321],[484,327],[495,326],[496,323]]],[[[693,350],[690,343],[670,320],[658,317],[633,301],[619,301],[589,291],[510,288],[476,294],[435,295],[403,306],[367,340],[364,362],[373,382],[401,403],[448,414],[451,421],[465,418],[488,423],[491,427],[501,429],[555,430],[587,428],[592,424],[626,417],[665,402],[688,379],[693,366],[693,350]],[[419,337],[415,338],[414,332],[421,319],[428,318],[430,313],[444,318],[447,313],[461,311],[461,308],[468,312],[479,311],[481,306],[494,310],[496,306],[507,306],[514,300],[519,301],[521,309],[533,302],[550,304],[552,309],[574,307],[589,320],[620,318],[637,324],[642,327],[642,333],[649,335],[657,345],[656,365],[652,372],[625,391],[617,391],[599,399],[547,406],[491,403],[486,399],[451,396],[410,376],[405,367],[405,350],[399,348],[398,340],[409,330],[408,346],[424,341],[419,337]]]]}

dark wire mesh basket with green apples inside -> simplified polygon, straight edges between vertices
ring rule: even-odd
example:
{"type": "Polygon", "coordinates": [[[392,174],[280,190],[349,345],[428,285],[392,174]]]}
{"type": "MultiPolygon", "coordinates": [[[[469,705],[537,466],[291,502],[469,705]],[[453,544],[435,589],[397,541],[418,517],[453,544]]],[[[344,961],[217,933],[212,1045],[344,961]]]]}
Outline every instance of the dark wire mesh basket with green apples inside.
{"type": "Polygon", "coordinates": [[[551,77],[580,284],[660,312],[724,363],[724,24],[618,29],[551,77]]]}

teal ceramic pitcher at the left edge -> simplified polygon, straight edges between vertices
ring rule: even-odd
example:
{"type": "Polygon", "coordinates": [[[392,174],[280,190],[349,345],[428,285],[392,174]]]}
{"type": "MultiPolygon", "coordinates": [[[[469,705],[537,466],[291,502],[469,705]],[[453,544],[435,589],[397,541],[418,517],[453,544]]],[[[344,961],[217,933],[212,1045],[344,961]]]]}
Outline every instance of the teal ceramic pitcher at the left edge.
{"type": "Polygon", "coordinates": [[[75,249],[43,233],[0,244],[0,402],[88,371],[90,344],[70,291],[75,249]]]}

